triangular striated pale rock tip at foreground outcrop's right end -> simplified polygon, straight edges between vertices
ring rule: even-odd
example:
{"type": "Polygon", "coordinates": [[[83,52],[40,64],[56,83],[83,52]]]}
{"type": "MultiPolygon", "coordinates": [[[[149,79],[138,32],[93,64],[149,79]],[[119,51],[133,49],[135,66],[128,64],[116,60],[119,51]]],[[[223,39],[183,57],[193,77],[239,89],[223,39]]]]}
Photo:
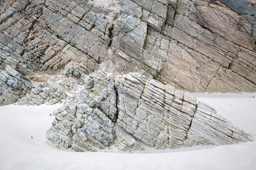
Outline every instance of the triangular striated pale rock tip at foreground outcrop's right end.
{"type": "Polygon", "coordinates": [[[251,140],[254,140],[251,135],[246,135],[243,130],[219,116],[212,107],[199,102],[184,145],[236,144],[251,140]]]}

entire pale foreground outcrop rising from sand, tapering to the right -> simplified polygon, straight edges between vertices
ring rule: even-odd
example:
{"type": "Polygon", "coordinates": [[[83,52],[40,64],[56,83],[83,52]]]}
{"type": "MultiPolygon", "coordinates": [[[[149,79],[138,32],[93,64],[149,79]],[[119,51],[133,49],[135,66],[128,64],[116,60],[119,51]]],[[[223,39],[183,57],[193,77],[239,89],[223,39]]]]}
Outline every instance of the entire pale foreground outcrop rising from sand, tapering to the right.
{"type": "Polygon", "coordinates": [[[144,150],[141,142],[164,149],[254,140],[212,107],[139,73],[86,76],[85,85],[68,92],[54,116],[48,142],[76,151],[113,144],[121,150],[144,150]]]}

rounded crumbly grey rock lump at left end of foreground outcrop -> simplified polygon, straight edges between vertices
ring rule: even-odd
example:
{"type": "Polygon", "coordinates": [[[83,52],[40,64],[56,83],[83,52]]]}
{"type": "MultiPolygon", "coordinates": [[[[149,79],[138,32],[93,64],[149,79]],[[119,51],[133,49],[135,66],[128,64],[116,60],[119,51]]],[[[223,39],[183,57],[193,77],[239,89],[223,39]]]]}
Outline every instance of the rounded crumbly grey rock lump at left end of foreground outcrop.
{"type": "Polygon", "coordinates": [[[114,143],[115,126],[99,109],[79,102],[81,93],[72,91],[63,107],[54,112],[55,120],[47,131],[48,142],[75,151],[96,151],[114,143]]]}

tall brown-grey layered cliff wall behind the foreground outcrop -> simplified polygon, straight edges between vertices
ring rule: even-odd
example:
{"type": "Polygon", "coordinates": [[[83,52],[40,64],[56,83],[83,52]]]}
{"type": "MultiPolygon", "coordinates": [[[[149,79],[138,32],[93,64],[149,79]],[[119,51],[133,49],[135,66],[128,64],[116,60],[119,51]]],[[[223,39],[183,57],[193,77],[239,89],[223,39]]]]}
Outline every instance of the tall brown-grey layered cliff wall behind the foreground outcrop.
{"type": "Polygon", "coordinates": [[[52,75],[71,64],[191,92],[256,91],[254,0],[107,2],[4,0],[0,69],[52,75]]]}

